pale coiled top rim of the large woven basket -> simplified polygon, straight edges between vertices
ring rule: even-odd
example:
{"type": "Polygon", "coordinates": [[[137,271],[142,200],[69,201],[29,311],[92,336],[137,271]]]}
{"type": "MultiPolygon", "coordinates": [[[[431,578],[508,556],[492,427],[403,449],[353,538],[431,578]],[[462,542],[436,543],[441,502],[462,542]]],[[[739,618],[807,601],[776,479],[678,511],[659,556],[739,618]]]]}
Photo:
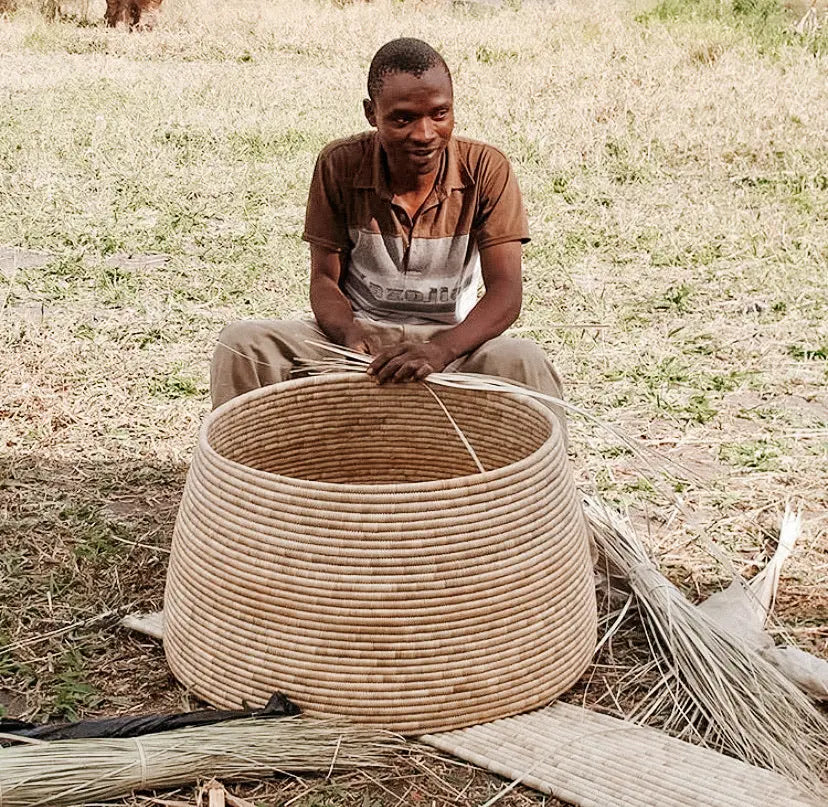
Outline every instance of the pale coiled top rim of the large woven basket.
{"type": "MultiPolygon", "coordinates": [[[[323,373],[319,375],[302,376],[300,378],[291,378],[287,381],[278,381],[275,384],[268,384],[264,387],[259,387],[254,390],[237,395],[229,401],[225,401],[221,406],[216,407],[210,412],[201,424],[201,429],[198,434],[198,450],[204,453],[213,462],[218,462],[228,468],[237,469],[249,477],[258,478],[262,481],[284,483],[287,485],[301,486],[308,490],[315,490],[326,493],[342,493],[344,491],[354,491],[356,493],[365,494],[399,494],[399,493],[428,493],[431,491],[447,490],[448,488],[468,488],[486,484],[488,482],[500,479],[507,476],[514,471],[518,471],[525,467],[528,463],[535,462],[544,452],[547,452],[550,447],[550,442],[561,440],[561,426],[557,417],[551,410],[536,401],[530,396],[523,396],[513,392],[497,392],[492,393],[496,395],[508,396],[521,405],[533,409],[540,414],[549,426],[549,436],[536,448],[531,454],[521,457],[514,462],[507,465],[501,465],[498,468],[479,472],[476,471],[471,474],[463,474],[461,476],[451,476],[444,479],[429,479],[420,482],[379,482],[379,483],[344,483],[344,482],[320,482],[315,479],[305,479],[303,477],[287,476],[286,474],[277,474],[272,471],[263,471],[259,468],[254,468],[250,465],[244,465],[236,460],[231,460],[220,454],[215,448],[210,445],[208,440],[208,433],[212,425],[217,421],[251,401],[265,398],[270,395],[278,394],[282,390],[293,389],[294,387],[304,386],[324,386],[327,384],[374,384],[364,373],[323,373]]],[[[425,383],[425,382],[420,382],[425,383]]],[[[405,385],[400,384],[400,387],[405,385]]],[[[473,447],[473,446],[472,446],[473,447]]]]}

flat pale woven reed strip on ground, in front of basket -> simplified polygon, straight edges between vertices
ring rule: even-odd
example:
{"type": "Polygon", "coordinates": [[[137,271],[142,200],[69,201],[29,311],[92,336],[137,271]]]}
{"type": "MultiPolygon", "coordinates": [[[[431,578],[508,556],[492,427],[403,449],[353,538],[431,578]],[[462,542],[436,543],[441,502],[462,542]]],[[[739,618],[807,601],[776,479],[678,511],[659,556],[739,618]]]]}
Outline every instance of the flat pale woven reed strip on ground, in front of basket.
{"type": "Polygon", "coordinates": [[[819,804],[776,773],[567,703],[420,740],[578,807],[819,804]]]}

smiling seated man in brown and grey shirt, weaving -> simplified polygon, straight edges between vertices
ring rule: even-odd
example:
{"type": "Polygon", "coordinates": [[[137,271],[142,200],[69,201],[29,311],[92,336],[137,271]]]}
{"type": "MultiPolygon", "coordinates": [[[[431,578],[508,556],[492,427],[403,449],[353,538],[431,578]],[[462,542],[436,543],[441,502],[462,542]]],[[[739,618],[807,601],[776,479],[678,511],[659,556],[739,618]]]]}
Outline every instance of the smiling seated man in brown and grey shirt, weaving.
{"type": "Polygon", "coordinates": [[[297,358],[330,358],[308,344],[325,337],[373,355],[380,383],[445,369],[560,398],[544,352],[501,335],[520,313],[526,213],[506,157],[453,136],[443,58],[418,39],[387,43],[363,106],[374,131],[326,146],[311,181],[303,237],[316,322],[227,326],[213,357],[213,406],[287,379],[297,358]]]}

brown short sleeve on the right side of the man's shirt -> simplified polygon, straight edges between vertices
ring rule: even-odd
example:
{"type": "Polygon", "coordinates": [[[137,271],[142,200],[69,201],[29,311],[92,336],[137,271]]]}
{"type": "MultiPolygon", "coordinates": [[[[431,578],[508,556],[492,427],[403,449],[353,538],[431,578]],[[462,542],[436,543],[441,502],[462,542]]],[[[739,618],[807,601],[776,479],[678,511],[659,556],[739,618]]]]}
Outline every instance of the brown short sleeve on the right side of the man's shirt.
{"type": "Polygon", "coordinates": [[[506,157],[492,149],[481,168],[475,215],[478,249],[508,241],[525,244],[529,240],[529,223],[512,166],[506,157]]]}

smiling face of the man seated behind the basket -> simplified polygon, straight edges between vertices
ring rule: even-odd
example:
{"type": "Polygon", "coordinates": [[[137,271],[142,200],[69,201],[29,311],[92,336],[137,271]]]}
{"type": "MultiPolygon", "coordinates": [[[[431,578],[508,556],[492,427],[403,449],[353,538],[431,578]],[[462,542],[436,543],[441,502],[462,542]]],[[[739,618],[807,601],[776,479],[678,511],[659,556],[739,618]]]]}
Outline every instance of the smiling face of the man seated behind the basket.
{"type": "Polygon", "coordinates": [[[441,65],[420,78],[389,73],[373,101],[365,101],[365,117],[377,128],[392,172],[430,174],[454,129],[451,79],[441,65]]]}

